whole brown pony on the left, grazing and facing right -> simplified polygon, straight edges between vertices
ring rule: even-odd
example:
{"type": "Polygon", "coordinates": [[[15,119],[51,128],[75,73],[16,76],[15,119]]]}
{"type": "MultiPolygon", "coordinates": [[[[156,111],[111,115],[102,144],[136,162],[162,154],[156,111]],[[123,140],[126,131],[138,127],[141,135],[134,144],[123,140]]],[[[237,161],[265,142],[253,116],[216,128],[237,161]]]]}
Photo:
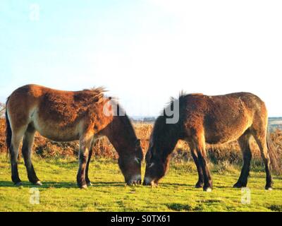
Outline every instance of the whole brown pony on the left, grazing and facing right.
{"type": "Polygon", "coordinates": [[[42,183],[32,166],[32,143],[38,131],[53,141],[80,141],[77,182],[80,188],[91,185],[88,168],[94,138],[106,136],[118,152],[118,165],[127,184],[140,184],[140,140],[121,107],[96,88],[77,92],[61,91],[40,85],[25,85],[13,91],[6,102],[6,143],[11,154],[12,181],[20,185],[18,149],[23,139],[23,158],[27,177],[42,183]]]}

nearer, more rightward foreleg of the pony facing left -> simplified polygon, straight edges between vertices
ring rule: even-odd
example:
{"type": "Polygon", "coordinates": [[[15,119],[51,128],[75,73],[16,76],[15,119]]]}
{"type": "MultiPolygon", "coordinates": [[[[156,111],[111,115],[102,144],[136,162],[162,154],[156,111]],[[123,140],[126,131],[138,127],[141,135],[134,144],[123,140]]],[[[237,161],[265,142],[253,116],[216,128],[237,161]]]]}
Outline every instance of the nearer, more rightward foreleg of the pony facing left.
{"type": "Polygon", "coordinates": [[[204,191],[212,191],[212,177],[209,172],[209,167],[207,163],[207,152],[206,152],[206,144],[204,140],[204,135],[197,136],[193,139],[195,143],[195,147],[197,150],[198,161],[200,162],[200,166],[202,167],[202,172],[204,175],[204,191]]]}

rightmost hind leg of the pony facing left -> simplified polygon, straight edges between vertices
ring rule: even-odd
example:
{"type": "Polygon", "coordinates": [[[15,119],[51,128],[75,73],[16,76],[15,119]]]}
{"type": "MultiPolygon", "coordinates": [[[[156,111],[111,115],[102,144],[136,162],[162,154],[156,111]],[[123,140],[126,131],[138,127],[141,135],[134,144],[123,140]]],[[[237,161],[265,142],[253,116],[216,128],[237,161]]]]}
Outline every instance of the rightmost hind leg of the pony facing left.
{"type": "Polygon", "coordinates": [[[262,160],[264,161],[265,172],[266,172],[266,190],[271,190],[273,186],[273,181],[270,172],[270,157],[269,151],[267,149],[266,143],[266,132],[264,133],[254,133],[255,140],[257,145],[259,145],[259,150],[262,155],[262,160]]]}

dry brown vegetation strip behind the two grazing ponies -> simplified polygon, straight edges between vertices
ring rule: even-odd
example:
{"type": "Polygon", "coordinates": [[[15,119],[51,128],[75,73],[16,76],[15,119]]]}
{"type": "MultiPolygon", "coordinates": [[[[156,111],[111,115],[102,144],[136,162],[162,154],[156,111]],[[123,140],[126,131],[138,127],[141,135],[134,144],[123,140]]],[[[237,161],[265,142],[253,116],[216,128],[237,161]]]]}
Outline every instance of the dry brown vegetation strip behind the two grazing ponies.
{"type": "MultiPolygon", "coordinates": [[[[152,130],[152,124],[134,124],[137,137],[141,140],[144,152],[149,145],[149,134],[152,130]]],[[[0,119],[0,153],[6,153],[6,135],[5,135],[5,119],[0,119]]],[[[278,155],[282,153],[282,131],[276,130],[271,133],[271,140],[276,148],[278,155]]],[[[58,143],[50,141],[38,133],[35,136],[34,153],[41,157],[65,157],[78,155],[78,141],[68,143],[58,143]]],[[[218,162],[229,162],[238,164],[242,162],[242,155],[238,143],[236,141],[226,143],[225,145],[207,145],[209,158],[214,164],[218,162]]],[[[261,161],[259,148],[254,140],[251,142],[253,159],[261,161]]],[[[93,148],[95,157],[111,157],[117,158],[118,155],[111,143],[106,137],[99,138],[95,141],[93,148]]],[[[173,152],[172,158],[176,162],[192,160],[190,150],[184,141],[179,141],[173,152]]]]}

